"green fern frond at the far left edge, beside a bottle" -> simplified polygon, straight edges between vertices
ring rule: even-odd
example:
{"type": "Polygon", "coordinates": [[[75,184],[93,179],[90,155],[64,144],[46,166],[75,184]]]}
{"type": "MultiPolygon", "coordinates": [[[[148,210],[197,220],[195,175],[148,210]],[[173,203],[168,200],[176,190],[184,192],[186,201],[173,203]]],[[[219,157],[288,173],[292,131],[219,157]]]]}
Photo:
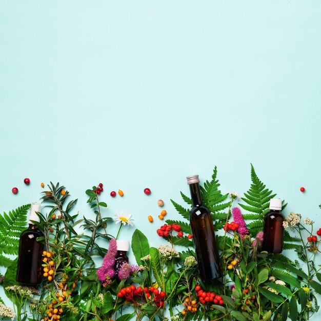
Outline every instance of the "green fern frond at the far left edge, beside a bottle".
{"type": "Polygon", "coordinates": [[[19,236],[26,229],[27,211],[30,204],[18,207],[8,214],[0,214],[0,266],[8,267],[12,259],[4,256],[17,255],[19,236]]]}

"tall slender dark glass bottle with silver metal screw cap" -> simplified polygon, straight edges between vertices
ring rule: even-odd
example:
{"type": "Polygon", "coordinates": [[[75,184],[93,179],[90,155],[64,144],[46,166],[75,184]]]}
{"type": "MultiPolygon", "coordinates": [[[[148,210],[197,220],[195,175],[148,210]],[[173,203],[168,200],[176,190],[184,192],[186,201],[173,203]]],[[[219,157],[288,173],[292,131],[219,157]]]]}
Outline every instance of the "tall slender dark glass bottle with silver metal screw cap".
{"type": "Polygon", "coordinates": [[[204,282],[221,277],[219,255],[216,249],[214,226],[210,211],[202,204],[198,175],[188,176],[192,206],[189,219],[193,234],[200,277],[204,282]]]}

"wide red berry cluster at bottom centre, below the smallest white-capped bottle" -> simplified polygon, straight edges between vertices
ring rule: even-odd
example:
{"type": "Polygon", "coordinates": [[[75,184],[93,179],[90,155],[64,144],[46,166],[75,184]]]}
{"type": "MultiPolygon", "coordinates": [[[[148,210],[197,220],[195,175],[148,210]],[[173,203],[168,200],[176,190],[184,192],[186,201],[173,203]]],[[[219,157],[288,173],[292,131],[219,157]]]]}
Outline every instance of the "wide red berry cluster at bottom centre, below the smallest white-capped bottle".
{"type": "Polygon", "coordinates": [[[123,288],[121,291],[118,292],[118,297],[125,297],[127,300],[137,300],[139,298],[144,299],[152,299],[156,307],[163,307],[164,306],[164,298],[166,296],[165,291],[159,291],[157,288],[147,287],[142,288],[141,286],[135,287],[131,285],[130,287],[123,288]],[[152,295],[153,296],[152,296],[152,295]]]}

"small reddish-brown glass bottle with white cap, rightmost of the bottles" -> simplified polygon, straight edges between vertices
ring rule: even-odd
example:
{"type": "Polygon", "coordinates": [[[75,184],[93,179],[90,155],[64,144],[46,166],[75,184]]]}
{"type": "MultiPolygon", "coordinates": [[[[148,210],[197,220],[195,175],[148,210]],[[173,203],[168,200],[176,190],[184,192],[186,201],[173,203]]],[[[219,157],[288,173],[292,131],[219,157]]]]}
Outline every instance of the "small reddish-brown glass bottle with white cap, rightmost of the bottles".
{"type": "Polygon", "coordinates": [[[271,198],[270,211],[264,217],[264,239],[262,250],[269,253],[281,253],[283,250],[284,215],[281,213],[282,200],[271,198]]]}

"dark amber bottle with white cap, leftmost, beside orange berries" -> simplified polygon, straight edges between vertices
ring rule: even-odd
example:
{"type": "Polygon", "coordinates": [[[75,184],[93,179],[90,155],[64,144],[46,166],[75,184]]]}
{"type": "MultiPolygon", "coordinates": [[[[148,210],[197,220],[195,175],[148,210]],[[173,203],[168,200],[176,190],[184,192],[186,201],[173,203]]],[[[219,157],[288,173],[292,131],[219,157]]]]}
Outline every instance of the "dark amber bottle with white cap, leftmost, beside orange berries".
{"type": "Polygon", "coordinates": [[[40,212],[40,204],[32,203],[29,216],[29,228],[21,233],[18,268],[16,280],[20,283],[38,285],[41,283],[42,252],[44,245],[36,241],[37,237],[44,236],[38,226],[31,222],[39,222],[36,212],[40,212]]]}

